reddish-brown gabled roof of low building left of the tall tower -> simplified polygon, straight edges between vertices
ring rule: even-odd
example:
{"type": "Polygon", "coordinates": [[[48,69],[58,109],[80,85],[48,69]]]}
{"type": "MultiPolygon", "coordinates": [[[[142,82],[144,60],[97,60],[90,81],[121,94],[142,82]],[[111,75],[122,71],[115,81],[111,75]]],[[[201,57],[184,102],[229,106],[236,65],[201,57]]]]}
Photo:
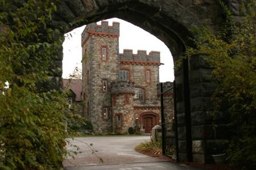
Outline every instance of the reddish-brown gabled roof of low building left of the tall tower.
{"type": "Polygon", "coordinates": [[[76,101],[82,100],[82,80],[81,79],[63,79],[63,89],[72,90],[76,94],[76,101]]]}

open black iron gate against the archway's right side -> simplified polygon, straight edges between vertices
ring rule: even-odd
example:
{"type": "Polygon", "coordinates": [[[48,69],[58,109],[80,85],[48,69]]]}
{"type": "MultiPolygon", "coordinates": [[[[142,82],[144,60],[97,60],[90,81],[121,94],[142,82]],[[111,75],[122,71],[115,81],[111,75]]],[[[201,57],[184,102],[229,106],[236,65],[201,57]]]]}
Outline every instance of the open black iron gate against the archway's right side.
{"type": "Polygon", "coordinates": [[[178,161],[175,82],[160,83],[163,155],[178,161]]]}

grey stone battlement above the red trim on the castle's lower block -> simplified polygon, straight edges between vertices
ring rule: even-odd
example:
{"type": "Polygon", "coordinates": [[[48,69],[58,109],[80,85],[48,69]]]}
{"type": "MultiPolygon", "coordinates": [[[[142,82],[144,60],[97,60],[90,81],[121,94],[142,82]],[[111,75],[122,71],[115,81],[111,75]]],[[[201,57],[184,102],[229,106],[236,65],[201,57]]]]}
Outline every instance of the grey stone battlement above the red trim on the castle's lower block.
{"type": "Polygon", "coordinates": [[[119,54],[120,61],[142,61],[160,63],[160,52],[151,51],[147,54],[146,50],[138,50],[137,54],[133,54],[131,49],[123,49],[123,53],[119,54]]]}

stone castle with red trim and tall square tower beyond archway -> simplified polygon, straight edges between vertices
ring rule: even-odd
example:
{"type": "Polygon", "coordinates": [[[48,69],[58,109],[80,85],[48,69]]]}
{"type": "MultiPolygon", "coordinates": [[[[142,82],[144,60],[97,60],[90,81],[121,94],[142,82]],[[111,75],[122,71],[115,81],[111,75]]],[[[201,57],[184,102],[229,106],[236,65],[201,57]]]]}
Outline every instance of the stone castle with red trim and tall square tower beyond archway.
{"type": "Polygon", "coordinates": [[[119,23],[88,24],[82,32],[82,98],[85,117],[96,133],[151,133],[160,123],[160,52],[124,49],[119,53],[119,23]]]}

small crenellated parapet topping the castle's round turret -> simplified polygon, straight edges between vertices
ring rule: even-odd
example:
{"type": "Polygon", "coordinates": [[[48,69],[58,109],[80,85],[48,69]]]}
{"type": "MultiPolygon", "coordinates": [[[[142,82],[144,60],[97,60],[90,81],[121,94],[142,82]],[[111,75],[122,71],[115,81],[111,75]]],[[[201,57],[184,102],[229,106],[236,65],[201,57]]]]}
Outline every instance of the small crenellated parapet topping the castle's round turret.
{"type": "Polygon", "coordinates": [[[135,94],[134,82],[118,80],[116,82],[112,82],[110,86],[112,94],[135,94]]]}

